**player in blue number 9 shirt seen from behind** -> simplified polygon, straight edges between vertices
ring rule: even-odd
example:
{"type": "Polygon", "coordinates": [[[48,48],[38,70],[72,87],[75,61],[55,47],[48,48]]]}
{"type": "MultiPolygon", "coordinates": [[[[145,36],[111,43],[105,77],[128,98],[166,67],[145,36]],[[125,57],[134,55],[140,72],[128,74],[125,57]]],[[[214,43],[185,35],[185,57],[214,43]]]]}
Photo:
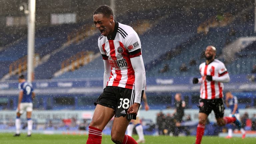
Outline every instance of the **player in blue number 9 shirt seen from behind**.
{"type": "Polygon", "coordinates": [[[20,116],[26,111],[28,120],[28,135],[31,136],[33,121],[31,119],[31,114],[33,110],[32,101],[35,98],[35,93],[33,92],[33,86],[31,83],[26,82],[24,75],[20,75],[19,81],[19,101],[16,109],[17,116],[15,120],[16,134],[14,136],[20,136],[20,116]]]}

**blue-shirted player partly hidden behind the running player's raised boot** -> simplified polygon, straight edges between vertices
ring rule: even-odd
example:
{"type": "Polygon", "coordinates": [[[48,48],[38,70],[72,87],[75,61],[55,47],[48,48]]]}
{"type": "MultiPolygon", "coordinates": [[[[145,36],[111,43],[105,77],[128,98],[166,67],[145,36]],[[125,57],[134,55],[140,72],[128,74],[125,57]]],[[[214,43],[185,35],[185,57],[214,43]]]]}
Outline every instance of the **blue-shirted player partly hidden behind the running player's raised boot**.
{"type": "MultiPolygon", "coordinates": [[[[231,92],[227,92],[226,93],[226,100],[225,103],[227,105],[228,108],[230,108],[231,113],[229,114],[229,117],[232,117],[233,115],[235,115],[235,117],[240,120],[240,115],[238,112],[238,101],[237,101],[237,97],[233,96],[231,92]]],[[[242,132],[242,138],[245,138],[245,130],[243,128],[240,129],[242,132]]],[[[232,138],[232,133],[233,130],[232,128],[228,129],[228,136],[226,138],[232,138]]]]}

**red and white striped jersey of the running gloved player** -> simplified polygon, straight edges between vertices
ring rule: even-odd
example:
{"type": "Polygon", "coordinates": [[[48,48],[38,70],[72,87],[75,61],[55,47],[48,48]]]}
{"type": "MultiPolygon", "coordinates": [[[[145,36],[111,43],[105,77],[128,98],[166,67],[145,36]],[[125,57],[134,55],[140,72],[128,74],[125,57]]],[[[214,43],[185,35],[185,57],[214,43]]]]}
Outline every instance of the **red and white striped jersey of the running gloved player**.
{"type": "Polygon", "coordinates": [[[200,98],[202,99],[217,99],[223,97],[223,83],[214,81],[214,77],[221,77],[228,75],[227,69],[221,61],[214,59],[211,63],[206,65],[206,62],[199,66],[202,78],[200,87],[200,98]],[[206,75],[213,76],[213,81],[206,80],[206,75]]]}

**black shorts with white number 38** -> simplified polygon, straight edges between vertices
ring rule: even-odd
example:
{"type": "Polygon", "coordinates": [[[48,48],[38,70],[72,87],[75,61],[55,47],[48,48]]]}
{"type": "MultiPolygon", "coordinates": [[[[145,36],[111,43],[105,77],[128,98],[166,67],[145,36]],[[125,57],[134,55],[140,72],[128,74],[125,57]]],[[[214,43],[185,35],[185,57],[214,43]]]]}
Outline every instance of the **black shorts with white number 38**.
{"type": "MultiPolygon", "coordinates": [[[[144,91],[141,93],[141,99],[144,91]]],[[[104,88],[102,94],[98,97],[94,105],[100,104],[114,109],[115,117],[127,115],[128,119],[136,119],[136,115],[127,114],[128,108],[134,103],[135,90],[107,86],[104,88]]]]}

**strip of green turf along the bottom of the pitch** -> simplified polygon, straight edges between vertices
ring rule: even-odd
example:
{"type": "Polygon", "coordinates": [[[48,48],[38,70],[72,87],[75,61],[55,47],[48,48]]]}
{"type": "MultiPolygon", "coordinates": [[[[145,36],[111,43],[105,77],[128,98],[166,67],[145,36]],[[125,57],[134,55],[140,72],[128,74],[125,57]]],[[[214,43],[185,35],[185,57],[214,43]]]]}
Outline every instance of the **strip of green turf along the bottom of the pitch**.
{"type": "MultiPolygon", "coordinates": [[[[32,134],[31,137],[26,137],[26,134],[21,134],[20,137],[13,137],[11,133],[0,133],[0,144],[85,144],[87,135],[45,135],[32,134]]],[[[134,135],[137,140],[138,136],[134,135]]],[[[194,136],[145,136],[146,144],[193,144],[194,136]]],[[[255,144],[256,138],[231,138],[225,139],[222,137],[203,137],[202,144],[255,144]]],[[[103,135],[102,144],[112,144],[109,135],[103,135]]]]}

